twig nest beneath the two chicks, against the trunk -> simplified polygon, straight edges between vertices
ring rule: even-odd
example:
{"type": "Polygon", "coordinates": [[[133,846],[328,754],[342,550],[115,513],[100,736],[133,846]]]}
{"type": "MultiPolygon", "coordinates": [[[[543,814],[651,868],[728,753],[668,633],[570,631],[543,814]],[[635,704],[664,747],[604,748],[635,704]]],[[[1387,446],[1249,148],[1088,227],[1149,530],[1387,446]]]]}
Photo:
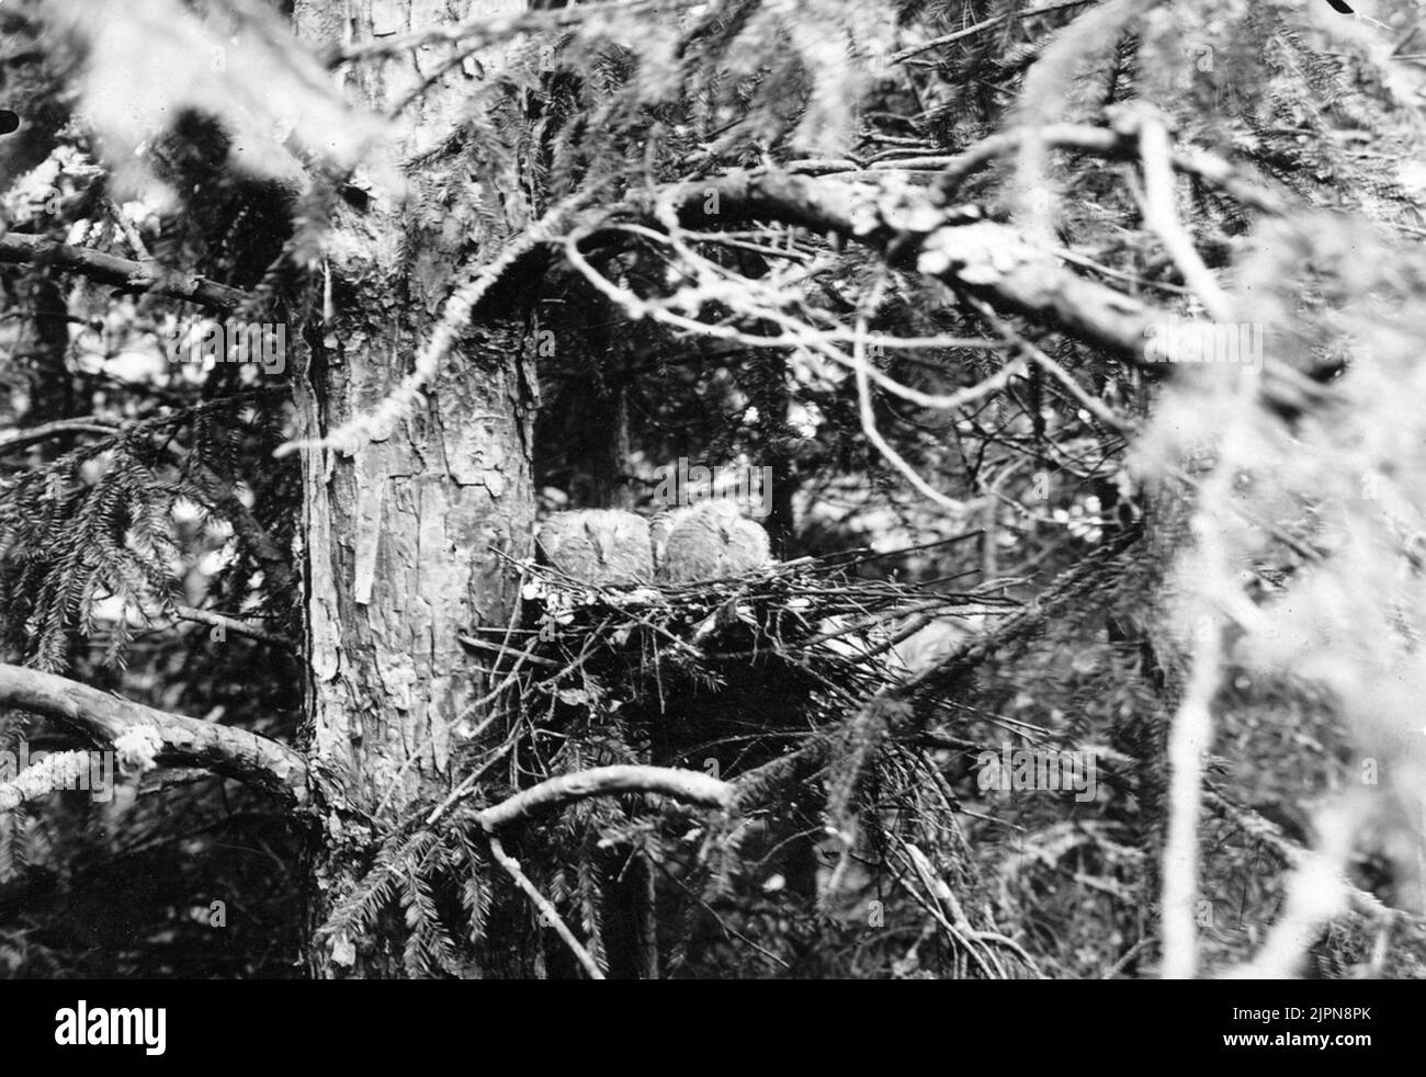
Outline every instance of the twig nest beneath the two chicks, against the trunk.
{"type": "MultiPolygon", "coordinates": [[[[990,592],[851,573],[861,561],[800,559],[724,579],[589,586],[522,562],[525,628],[466,638],[501,712],[593,736],[616,720],[639,762],[746,769],[918,672],[931,626],[1014,613],[990,592]]],[[[950,638],[968,635],[953,629],[950,638]]],[[[619,760],[626,762],[626,760],[619,760]]]]}

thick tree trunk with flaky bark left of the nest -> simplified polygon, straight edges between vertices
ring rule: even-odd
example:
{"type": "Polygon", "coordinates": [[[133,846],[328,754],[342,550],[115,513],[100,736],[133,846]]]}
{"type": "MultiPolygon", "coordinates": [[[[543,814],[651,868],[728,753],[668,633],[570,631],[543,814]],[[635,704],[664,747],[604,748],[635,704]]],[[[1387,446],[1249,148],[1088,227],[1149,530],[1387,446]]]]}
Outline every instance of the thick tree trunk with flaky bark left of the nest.
{"type": "MultiPolygon", "coordinates": [[[[318,53],[435,16],[415,0],[298,0],[294,11],[299,40],[318,53]]],[[[366,60],[351,68],[349,90],[389,114],[443,58],[431,49],[366,60]]],[[[402,113],[402,160],[426,155],[455,130],[469,86],[456,67],[402,113]]],[[[528,190],[509,178],[508,231],[525,223],[519,193],[528,190]]],[[[318,304],[302,332],[289,334],[301,338],[292,365],[299,437],[369,414],[411,371],[458,265],[489,260],[505,238],[488,235],[485,250],[472,250],[469,231],[453,227],[473,217],[465,154],[431,154],[409,180],[405,200],[378,190],[332,221],[329,317],[318,304]]],[[[478,317],[386,437],[352,456],[304,451],[309,931],[412,805],[452,786],[463,745],[456,719],[482,690],[458,633],[508,622],[513,576],[495,551],[525,556],[533,525],[535,375],[525,335],[522,318],[478,317]]],[[[307,964],[319,977],[404,974],[401,940],[391,937],[309,934],[307,964]]]]}

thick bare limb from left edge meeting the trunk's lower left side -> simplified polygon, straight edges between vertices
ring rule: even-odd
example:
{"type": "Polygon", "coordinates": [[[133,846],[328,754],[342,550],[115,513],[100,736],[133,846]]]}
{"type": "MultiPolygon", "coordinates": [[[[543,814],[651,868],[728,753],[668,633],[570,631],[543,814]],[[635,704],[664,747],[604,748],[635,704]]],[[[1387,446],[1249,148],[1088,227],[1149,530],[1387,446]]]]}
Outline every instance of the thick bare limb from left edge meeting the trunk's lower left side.
{"type": "Polygon", "coordinates": [[[125,733],[160,742],[160,763],[202,766],[274,793],[289,803],[307,796],[307,763],[292,749],[247,729],[135,703],[54,673],[0,663],[0,706],[33,710],[86,740],[113,746],[125,733]]]}

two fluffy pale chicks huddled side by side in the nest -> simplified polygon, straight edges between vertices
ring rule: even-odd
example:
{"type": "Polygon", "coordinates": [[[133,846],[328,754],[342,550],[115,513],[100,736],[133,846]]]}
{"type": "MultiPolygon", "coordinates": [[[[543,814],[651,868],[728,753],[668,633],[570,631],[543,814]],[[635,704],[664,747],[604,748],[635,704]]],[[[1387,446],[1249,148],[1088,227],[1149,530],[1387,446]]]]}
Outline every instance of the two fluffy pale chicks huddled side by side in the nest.
{"type": "Polygon", "coordinates": [[[556,512],[535,536],[546,563],[585,583],[636,586],[723,579],[771,562],[767,532],[727,501],[660,512],[556,512]]]}

